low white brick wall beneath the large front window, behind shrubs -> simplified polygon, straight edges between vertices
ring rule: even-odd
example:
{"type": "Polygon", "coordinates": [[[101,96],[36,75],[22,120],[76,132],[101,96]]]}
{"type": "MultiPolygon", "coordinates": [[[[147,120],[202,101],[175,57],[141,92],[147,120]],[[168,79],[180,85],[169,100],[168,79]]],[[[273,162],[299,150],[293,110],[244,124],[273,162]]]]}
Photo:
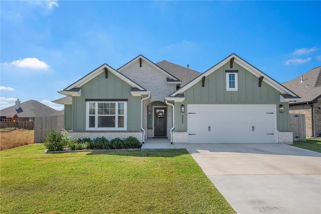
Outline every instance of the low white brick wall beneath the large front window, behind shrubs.
{"type": "MultiPolygon", "coordinates": [[[[61,131],[62,134],[66,132],[65,130],[61,131]]],[[[115,138],[128,138],[128,137],[135,137],[137,140],[142,143],[142,131],[83,131],[83,132],[74,132],[74,131],[67,131],[67,136],[69,138],[90,138],[93,140],[95,138],[105,137],[107,140],[112,140],[115,138]]]]}

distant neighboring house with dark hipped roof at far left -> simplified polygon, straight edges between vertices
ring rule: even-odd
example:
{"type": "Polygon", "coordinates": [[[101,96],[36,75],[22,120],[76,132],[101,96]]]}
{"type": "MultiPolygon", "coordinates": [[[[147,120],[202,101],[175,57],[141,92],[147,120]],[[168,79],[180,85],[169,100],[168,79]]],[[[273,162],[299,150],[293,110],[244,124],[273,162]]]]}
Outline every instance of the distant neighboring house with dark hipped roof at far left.
{"type": "Polygon", "coordinates": [[[35,121],[35,118],[49,116],[56,112],[57,110],[36,100],[21,102],[18,99],[15,105],[0,110],[0,117],[1,121],[7,121],[8,115],[15,114],[18,117],[18,121],[35,121]]]}

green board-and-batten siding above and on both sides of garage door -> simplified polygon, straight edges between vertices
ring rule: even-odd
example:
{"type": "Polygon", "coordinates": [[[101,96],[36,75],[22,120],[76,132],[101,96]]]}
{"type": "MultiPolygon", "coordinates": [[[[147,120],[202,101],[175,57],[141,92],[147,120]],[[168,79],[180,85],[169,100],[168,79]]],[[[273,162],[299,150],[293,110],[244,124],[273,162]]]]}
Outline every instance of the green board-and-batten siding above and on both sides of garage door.
{"type": "Polygon", "coordinates": [[[175,103],[175,130],[187,130],[187,104],[276,104],[277,129],[289,130],[288,114],[279,113],[279,104],[284,105],[285,112],[289,111],[288,102],[280,102],[280,92],[264,81],[259,87],[259,78],[241,67],[230,62],[212,72],[205,78],[184,91],[184,102],[175,103]],[[225,70],[238,70],[238,91],[226,90],[225,70]],[[185,113],[181,113],[181,104],[185,105],[185,113]],[[183,115],[183,118],[182,118],[183,115]]]}

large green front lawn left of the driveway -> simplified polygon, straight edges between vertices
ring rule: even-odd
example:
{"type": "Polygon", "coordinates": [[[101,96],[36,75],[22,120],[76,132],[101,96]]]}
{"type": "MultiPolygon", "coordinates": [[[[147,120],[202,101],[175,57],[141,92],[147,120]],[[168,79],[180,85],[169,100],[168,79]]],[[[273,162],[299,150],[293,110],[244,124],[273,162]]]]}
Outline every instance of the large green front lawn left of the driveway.
{"type": "Polygon", "coordinates": [[[0,152],[1,213],[235,213],[186,150],[0,152]]]}

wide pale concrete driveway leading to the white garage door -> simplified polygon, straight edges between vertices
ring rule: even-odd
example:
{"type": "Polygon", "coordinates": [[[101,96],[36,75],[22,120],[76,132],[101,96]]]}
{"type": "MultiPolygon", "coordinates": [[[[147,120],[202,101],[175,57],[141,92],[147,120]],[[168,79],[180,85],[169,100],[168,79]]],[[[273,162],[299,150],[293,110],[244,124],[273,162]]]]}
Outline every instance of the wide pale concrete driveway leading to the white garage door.
{"type": "Polygon", "coordinates": [[[285,144],[188,144],[237,213],[321,213],[321,153],[285,144]]]}

